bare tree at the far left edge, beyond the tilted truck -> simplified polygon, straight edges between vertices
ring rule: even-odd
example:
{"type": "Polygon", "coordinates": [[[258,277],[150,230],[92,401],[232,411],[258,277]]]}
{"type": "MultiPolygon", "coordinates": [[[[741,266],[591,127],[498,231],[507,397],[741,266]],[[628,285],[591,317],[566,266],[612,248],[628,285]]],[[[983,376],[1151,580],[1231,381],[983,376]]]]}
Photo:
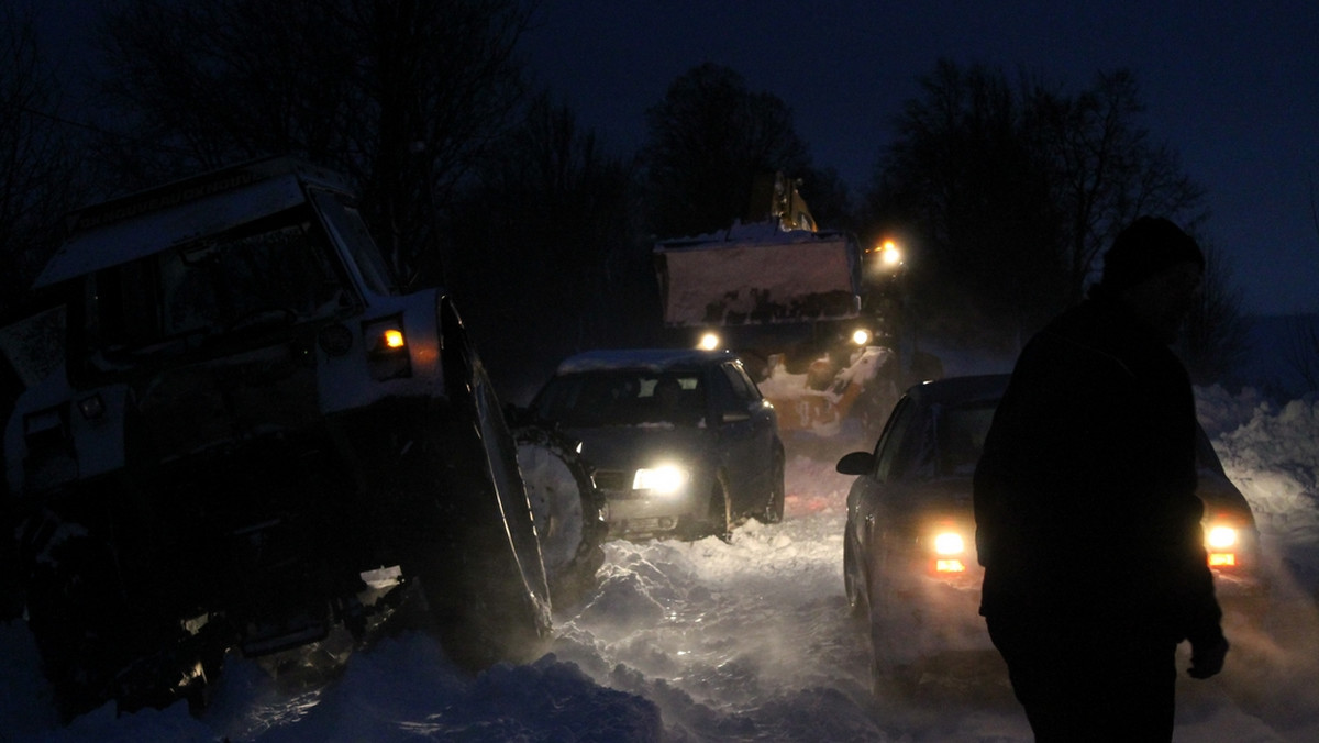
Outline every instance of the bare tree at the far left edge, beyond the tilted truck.
{"type": "Polygon", "coordinates": [[[59,240],[61,218],[83,194],[59,117],[59,87],[42,66],[32,12],[0,8],[0,311],[28,290],[59,240]]]}

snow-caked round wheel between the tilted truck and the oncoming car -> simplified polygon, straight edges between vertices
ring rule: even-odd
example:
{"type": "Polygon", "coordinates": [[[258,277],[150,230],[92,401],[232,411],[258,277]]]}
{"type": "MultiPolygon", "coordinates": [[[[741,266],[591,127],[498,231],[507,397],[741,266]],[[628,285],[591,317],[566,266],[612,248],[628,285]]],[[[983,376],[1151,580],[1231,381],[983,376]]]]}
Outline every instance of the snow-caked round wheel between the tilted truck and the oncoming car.
{"type": "Polygon", "coordinates": [[[555,604],[576,600],[604,564],[604,498],[590,468],[561,434],[524,426],[513,432],[517,463],[532,501],[545,577],[555,604]]]}

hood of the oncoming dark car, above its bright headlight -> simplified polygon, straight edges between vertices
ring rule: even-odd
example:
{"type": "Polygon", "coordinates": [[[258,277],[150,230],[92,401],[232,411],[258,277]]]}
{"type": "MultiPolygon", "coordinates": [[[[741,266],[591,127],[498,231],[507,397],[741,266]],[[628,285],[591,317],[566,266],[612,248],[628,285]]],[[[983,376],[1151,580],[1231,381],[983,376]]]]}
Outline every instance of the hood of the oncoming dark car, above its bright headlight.
{"type": "Polygon", "coordinates": [[[582,458],[601,470],[648,467],[663,461],[706,457],[710,432],[669,424],[565,429],[582,442],[582,458]]]}

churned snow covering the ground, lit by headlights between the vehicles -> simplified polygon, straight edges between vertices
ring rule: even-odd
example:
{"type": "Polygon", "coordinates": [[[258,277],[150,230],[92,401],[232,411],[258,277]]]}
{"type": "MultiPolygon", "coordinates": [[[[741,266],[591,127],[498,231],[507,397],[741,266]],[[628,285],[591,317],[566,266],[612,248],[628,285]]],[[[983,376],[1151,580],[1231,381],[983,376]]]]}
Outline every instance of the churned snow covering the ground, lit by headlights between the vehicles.
{"type": "MultiPolygon", "coordinates": [[[[1221,676],[1178,682],[1177,740],[1316,740],[1319,401],[1198,393],[1274,557],[1275,598],[1256,624],[1229,616],[1221,676]]],[[[751,523],[731,544],[611,542],[599,586],[557,607],[551,655],[475,678],[404,631],[347,655],[327,644],[280,676],[235,659],[199,718],[106,706],[59,727],[25,627],[0,626],[0,739],[1030,740],[992,660],[915,697],[871,693],[843,598],[838,454],[795,450],[782,524],[751,523]]]]}

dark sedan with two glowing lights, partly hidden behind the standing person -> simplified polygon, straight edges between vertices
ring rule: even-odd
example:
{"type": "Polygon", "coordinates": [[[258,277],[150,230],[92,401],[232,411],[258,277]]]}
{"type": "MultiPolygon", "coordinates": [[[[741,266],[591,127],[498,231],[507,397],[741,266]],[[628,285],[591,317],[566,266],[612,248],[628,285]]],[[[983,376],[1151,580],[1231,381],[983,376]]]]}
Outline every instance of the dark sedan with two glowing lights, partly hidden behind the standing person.
{"type": "MultiPolygon", "coordinates": [[[[951,377],[913,387],[873,451],[838,471],[857,475],[847,498],[843,578],[856,614],[869,616],[874,656],[918,653],[934,641],[983,636],[983,569],[976,562],[971,482],[1008,375],[951,377]]],[[[1254,516],[1228,480],[1210,439],[1196,446],[1206,550],[1220,594],[1260,590],[1254,516]]]]}

